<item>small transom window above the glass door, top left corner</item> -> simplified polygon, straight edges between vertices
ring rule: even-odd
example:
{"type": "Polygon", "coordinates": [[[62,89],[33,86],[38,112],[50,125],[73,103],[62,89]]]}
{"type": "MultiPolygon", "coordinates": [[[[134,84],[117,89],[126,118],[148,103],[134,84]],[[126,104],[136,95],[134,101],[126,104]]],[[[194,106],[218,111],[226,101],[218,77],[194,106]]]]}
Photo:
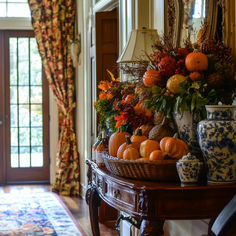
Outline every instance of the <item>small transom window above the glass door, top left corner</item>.
{"type": "Polygon", "coordinates": [[[27,0],[0,0],[0,17],[30,17],[27,0]]]}

